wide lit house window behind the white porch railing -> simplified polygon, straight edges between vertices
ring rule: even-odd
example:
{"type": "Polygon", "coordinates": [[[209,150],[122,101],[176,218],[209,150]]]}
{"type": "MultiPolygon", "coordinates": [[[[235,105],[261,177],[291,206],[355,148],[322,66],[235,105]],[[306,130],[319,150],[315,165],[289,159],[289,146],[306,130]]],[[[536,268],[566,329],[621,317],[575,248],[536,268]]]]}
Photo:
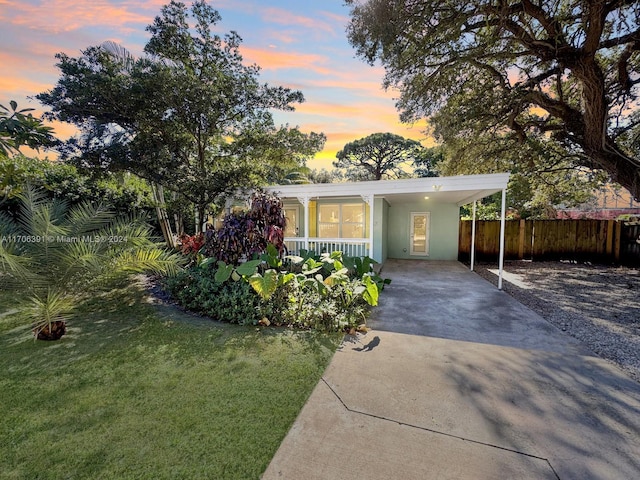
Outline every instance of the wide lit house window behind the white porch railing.
{"type": "Polygon", "coordinates": [[[364,203],[318,205],[318,237],[364,238],[364,203]]]}

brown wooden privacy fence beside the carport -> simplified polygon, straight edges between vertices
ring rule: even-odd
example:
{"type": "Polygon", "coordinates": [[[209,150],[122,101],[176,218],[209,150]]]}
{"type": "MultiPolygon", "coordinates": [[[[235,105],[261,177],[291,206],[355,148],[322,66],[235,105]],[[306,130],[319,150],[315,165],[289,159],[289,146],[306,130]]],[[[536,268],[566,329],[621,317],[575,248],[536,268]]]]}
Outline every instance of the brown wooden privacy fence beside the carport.
{"type": "MultiPolygon", "coordinates": [[[[471,220],[460,221],[460,261],[470,258],[471,226],[471,220]]],[[[496,261],[499,251],[500,221],[476,221],[476,259],[496,261]]],[[[640,265],[640,222],[507,220],[505,258],[640,265]]]]}

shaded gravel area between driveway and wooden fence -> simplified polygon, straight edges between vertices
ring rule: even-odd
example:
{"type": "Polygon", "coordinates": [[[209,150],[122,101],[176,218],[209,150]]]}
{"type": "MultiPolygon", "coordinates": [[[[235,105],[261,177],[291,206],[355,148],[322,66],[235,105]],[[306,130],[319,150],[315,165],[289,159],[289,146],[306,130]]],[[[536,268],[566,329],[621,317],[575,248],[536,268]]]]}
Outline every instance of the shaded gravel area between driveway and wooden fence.
{"type": "MultiPolygon", "coordinates": [[[[497,285],[496,264],[476,273],[497,285]]],[[[640,270],[506,261],[503,290],[640,382],[640,270]]]]}

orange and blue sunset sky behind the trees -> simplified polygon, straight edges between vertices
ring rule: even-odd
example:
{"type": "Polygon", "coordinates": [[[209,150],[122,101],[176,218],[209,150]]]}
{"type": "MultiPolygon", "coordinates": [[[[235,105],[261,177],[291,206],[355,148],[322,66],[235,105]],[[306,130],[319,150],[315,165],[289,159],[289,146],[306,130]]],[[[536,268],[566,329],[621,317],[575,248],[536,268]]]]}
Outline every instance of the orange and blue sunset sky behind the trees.
{"type": "MultiPolygon", "coordinates": [[[[0,0],[0,104],[42,106],[27,97],[52,88],[59,72],[54,55],[80,51],[106,40],[141,55],[152,23],[169,0],[0,0]]],[[[190,4],[190,2],[185,2],[190,4]]],[[[323,132],[324,151],[309,166],[331,168],[345,143],[376,132],[393,132],[425,145],[424,125],[398,120],[394,92],[381,88],[383,70],[355,58],[346,39],[349,9],[342,0],[210,0],[222,15],[216,31],[235,30],[246,63],[261,68],[260,80],[304,93],[295,112],[276,123],[323,132]]],[[[53,125],[66,138],[73,127],[53,125]]]]}

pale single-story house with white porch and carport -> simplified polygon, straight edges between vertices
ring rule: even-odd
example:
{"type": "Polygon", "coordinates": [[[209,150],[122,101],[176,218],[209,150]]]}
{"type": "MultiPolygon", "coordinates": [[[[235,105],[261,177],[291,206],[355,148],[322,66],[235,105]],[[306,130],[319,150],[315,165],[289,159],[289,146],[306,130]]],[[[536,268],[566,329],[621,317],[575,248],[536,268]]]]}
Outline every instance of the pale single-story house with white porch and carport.
{"type": "MultiPolygon", "coordinates": [[[[276,185],[291,253],[341,250],[387,258],[456,260],[460,207],[504,192],[508,173],[276,185]]],[[[475,208],[474,208],[475,211],[475,208]]],[[[500,261],[500,263],[502,263],[500,261]]]]}

